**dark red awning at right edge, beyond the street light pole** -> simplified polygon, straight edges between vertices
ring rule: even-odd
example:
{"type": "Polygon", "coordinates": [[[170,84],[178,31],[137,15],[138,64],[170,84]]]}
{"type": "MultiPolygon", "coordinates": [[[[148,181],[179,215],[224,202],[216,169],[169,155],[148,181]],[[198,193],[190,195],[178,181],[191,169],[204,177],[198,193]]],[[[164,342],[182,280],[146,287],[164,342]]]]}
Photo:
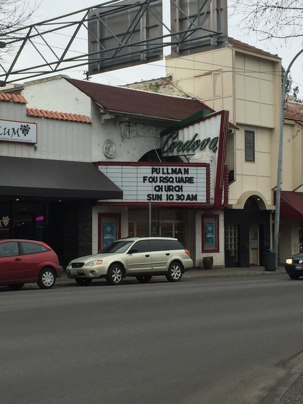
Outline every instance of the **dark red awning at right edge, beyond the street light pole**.
{"type": "Polygon", "coordinates": [[[303,219],[303,192],[281,191],[280,219],[303,219]]]}

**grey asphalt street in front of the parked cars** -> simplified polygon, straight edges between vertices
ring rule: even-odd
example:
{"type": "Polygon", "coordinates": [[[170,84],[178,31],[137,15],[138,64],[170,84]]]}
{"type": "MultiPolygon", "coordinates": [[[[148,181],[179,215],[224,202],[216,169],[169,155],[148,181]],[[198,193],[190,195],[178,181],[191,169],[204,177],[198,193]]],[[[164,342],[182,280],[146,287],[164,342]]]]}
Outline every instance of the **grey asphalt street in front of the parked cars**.
{"type": "Polygon", "coordinates": [[[0,288],[0,404],[302,402],[303,281],[222,271],[0,288]]]}

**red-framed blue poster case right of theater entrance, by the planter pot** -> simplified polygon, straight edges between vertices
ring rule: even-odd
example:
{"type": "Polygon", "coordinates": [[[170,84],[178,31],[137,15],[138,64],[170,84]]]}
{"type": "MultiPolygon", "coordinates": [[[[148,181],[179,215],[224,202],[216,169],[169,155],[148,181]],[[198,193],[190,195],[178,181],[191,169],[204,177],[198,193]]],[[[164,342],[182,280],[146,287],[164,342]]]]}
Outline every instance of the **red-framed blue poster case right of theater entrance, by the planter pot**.
{"type": "Polygon", "coordinates": [[[219,215],[202,216],[202,252],[219,252],[219,215]]]}

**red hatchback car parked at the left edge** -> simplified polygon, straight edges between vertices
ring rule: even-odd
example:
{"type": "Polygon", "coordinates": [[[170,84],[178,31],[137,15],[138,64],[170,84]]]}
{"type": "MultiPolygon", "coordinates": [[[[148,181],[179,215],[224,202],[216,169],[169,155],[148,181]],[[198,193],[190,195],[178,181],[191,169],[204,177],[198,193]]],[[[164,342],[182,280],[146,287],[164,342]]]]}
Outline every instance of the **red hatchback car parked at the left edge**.
{"type": "Polygon", "coordinates": [[[61,274],[56,252],[42,241],[0,240],[0,286],[18,290],[37,282],[50,289],[61,274]]]}

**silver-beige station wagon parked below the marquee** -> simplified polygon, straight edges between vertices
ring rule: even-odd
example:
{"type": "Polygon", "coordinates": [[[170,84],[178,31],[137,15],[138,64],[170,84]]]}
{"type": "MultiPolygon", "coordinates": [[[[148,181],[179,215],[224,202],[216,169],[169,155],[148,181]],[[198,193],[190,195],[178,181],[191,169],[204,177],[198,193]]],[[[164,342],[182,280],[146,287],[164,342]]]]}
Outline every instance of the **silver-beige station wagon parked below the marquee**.
{"type": "Polygon", "coordinates": [[[80,286],[100,278],[106,278],[110,285],[119,285],[127,276],[146,283],[152,276],[164,275],[168,281],[177,282],[192,265],[189,251],[176,238],[127,237],[97,254],[71,261],[66,274],[80,286]]]}

